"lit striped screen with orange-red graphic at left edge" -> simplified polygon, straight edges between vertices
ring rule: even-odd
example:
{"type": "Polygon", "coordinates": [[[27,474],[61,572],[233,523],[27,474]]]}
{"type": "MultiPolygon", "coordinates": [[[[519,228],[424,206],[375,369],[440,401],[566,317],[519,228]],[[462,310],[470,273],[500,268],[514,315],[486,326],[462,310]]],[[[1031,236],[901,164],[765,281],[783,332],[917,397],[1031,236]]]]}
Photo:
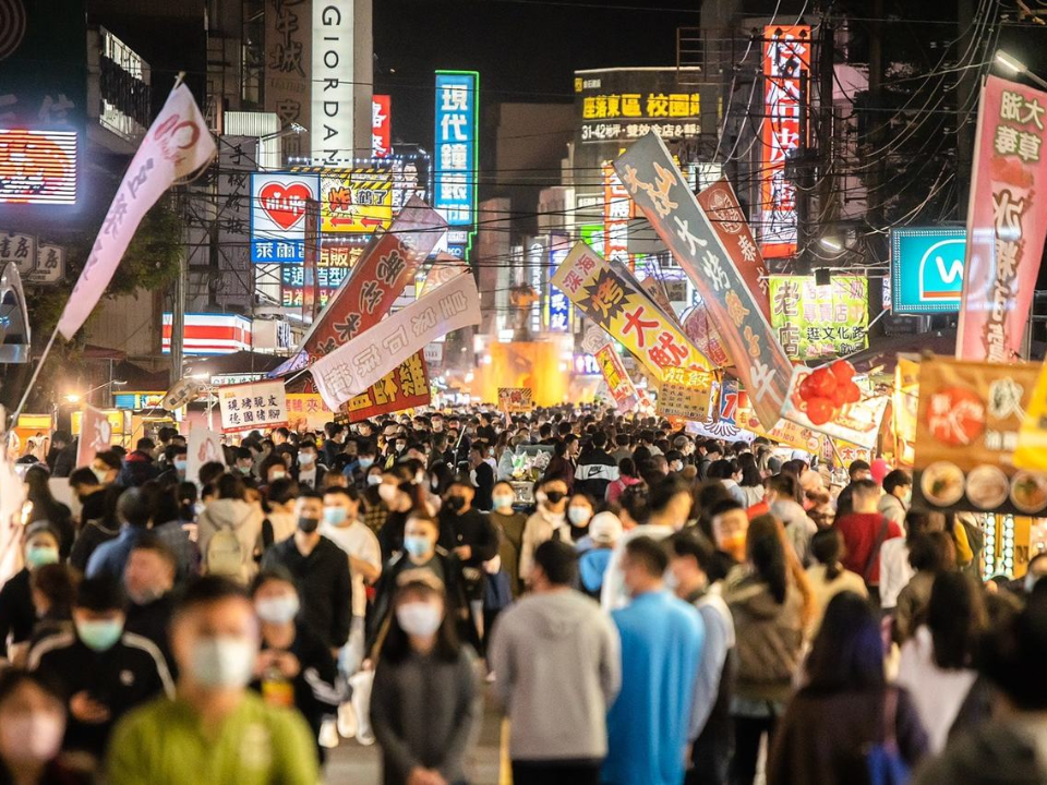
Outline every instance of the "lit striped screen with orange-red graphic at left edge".
{"type": "Polygon", "coordinates": [[[0,129],[0,204],[76,204],[75,131],[0,129]]]}

